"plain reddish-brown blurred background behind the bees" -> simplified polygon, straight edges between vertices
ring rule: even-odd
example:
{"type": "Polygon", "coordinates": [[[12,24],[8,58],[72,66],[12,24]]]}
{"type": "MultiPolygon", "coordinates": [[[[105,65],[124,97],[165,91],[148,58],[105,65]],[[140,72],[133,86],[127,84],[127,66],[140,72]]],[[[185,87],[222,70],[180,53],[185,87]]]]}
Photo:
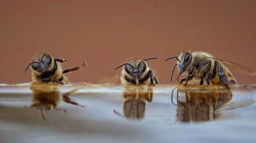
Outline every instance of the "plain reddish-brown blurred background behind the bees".
{"type": "MultiPolygon", "coordinates": [[[[88,67],[73,82],[113,82],[129,57],[148,62],[170,83],[183,50],[207,51],[256,70],[256,1],[0,1],[0,83],[31,81],[24,68],[35,53],[67,58],[63,67],[88,67]]],[[[240,84],[255,76],[233,72],[240,84]]],[[[175,73],[176,75],[176,73],[175,73]]]]}

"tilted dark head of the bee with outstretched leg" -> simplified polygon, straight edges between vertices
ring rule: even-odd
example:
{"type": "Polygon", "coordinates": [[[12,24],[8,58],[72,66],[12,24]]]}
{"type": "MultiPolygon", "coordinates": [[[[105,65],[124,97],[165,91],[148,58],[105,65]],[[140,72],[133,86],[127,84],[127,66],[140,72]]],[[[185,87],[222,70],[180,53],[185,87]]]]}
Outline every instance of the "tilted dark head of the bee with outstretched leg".
{"type": "Polygon", "coordinates": [[[28,67],[32,67],[33,70],[38,72],[45,72],[46,69],[51,65],[52,63],[52,57],[48,54],[43,54],[42,57],[36,58],[33,62],[28,64],[25,72],[27,71],[28,67]]]}

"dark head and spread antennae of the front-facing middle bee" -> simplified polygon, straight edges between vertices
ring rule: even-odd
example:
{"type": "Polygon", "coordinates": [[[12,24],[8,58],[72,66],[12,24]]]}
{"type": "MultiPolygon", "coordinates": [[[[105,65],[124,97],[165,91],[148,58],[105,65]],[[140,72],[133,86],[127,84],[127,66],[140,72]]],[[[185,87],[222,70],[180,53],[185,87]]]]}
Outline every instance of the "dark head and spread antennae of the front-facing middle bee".
{"type": "Polygon", "coordinates": [[[137,62],[125,63],[125,64],[122,64],[121,66],[118,66],[117,68],[115,68],[115,70],[117,70],[119,67],[125,66],[125,71],[131,77],[133,77],[136,84],[139,85],[139,80],[141,79],[142,73],[144,71],[146,71],[146,68],[147,68],[147,65],[144,61],[150,60],[150,59],[158,59],[158,58],[155,57],[155,58],[144,59],[144,60],[141,60],[141,62],[139,62],[138,64],[137,64],[137,62]]]}

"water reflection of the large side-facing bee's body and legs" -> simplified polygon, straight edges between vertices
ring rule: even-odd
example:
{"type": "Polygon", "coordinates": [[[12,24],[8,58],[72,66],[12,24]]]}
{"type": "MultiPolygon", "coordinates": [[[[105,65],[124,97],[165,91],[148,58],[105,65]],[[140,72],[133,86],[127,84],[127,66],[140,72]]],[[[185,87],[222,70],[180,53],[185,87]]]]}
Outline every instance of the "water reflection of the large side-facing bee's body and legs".
{"type": "Polygon", "coordinates": [[[176,119],[179,122],[206,122],[217,119],[220,116],[220,112],[217,111],[232,99],[230,89],[202,92],[182,89],[178,86],[177,103],[174,103],[174,90],[172,90],[171,100],[177,106],[176,119]]]}

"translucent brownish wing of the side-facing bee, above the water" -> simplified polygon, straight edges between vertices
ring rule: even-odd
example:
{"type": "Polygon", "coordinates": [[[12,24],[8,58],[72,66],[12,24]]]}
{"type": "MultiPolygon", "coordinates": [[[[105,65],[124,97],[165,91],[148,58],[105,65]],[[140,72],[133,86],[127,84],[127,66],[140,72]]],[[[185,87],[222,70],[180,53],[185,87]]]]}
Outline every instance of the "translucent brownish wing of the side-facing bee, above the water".
{"type": "Polygon", "coordinates": [[[222,59],[216,59],[216,58],[212,58],[212,57],[208,57],[208,58],[218,60],[219,62],[225,64],[225,66],[227,66],[228,68],[232,68],[232,69],[234,69],[238,72],[246,73],[246,74],[249,74],[249,75],[256,75],[255,71],[251,70],[248,67],[242,66],[241,64],[229,62],[229,61],[222,60],[222,59]]]}

